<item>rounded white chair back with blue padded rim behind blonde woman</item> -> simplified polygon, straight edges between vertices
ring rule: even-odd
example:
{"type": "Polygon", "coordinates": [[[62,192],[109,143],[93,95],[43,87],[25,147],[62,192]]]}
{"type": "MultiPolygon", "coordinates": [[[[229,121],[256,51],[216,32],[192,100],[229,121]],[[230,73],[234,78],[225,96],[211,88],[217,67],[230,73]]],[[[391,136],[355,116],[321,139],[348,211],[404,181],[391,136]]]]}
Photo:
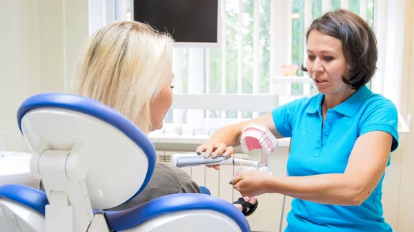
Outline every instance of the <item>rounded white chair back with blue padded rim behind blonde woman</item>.
{"type": "MultiPolygon", "coordinates": [[[[38,94],[22,103],[17,120],[33,154],[70,151],[79,155],[79,163],[88,165],[85,182],[93,209],[127,202],[152,176],[155,148],[148,137],[98,101],[72,94],[38,94]]],[[[38,167],[30,170],[40,176],[38,167]]]]}

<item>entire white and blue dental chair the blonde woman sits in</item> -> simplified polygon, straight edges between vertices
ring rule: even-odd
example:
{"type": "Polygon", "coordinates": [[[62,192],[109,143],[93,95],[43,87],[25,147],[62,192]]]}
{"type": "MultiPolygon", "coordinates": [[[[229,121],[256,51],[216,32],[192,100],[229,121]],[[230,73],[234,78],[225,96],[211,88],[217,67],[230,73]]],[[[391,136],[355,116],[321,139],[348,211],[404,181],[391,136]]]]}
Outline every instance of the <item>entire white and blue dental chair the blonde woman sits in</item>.
{"type": "Polygon", "coordinates": [[[102,103],[39,94],[21,105],[17,118],[32,151],[30,171],[45,191],[0,186],[0,231],[250,232],[242,212],[208,194],[173,194],[105,211],[146,187],[155,148],[128,118],[102,103]]]}

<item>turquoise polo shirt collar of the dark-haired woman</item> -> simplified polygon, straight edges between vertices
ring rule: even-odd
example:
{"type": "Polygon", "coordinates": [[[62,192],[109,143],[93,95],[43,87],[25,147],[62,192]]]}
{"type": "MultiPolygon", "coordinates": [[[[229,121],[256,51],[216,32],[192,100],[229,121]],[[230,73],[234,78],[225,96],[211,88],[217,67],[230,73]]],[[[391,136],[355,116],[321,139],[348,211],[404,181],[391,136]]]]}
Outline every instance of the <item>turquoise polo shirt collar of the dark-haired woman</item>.
{"type": "MultiPolygon", "coordinates": [[[[360,87],[343,103],[333,108],[335,112],[343,114],[344,116],[352,117],[358,111],[358,109],[364,104],[366,98],[371,95],[371,90],[366,85],[360,87]]],[[[306,108],[308,114],[315,114],[316,112],[322,112],[322,101],[324,100],[324,94],[318,94],[316,98],[306,108]]]]}

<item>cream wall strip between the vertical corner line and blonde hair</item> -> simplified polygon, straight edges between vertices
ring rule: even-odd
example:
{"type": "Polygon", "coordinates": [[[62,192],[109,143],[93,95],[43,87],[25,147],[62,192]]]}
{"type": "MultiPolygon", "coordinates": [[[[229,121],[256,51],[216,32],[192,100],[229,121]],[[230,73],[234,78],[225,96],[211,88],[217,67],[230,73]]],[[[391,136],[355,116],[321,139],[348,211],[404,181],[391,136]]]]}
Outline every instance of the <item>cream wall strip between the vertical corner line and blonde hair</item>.
{"type": "Polygon", "coordinates": [[[41,89],[70,93],[77,55],[88,39],[88,1],[38,1],[41,89]]]}

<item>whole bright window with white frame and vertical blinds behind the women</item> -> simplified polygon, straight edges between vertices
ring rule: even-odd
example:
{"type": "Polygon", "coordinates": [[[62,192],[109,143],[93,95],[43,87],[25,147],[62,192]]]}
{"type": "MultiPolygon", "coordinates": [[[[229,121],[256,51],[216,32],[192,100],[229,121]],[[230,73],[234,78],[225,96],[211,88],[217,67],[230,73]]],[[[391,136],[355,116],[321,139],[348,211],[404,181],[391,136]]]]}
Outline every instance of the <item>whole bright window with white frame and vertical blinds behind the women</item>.
{"type": "MultiPolygon", "coordinates": [[[[397,83],[400,82],[393,81],[390,85],[393,89],[390,90],[388,79],[394,78],[389,74],[399,70],[397,65],[402,57],[390,60],[388,57],[395,57],[397,53],[389,45],[385,46],[385,41],[390,43],[402,37],[389,34],[404,33],[395,26],[401,22],[397,10],[404,6],[400,5],[398,1],[375,0],[221,0],[220,47],[173,48],[173,70],[177,78],[175,94],[253,96],[277,93],[279,105],[315,94],[316,89],[310,78],[299,68],[306,59],[306,28],[324,12],[346,8],[366,19],[377,33],[379,71],[368,87],[372,86],[375,92],[396,99],[399,107],[395,89],[398,89],[397,83]],[[282,65],[297,65],[297,77],[282,78],[282,65]]],[[[90,32],[111,21],[131,19],[131,0],[90,1],[90,32]]],[[[402,50],[399,43],[393,44],[391,46],[395,47],[395,51],[402,50]]],[[[263,112],[170,109],[164,128],[150,136],[157,138],[175,134],[179,137],[188,134],[206,138],[219,127],[260,114],[263,112]]],[[[196,143],[201,143],[201,140],[196,143]]]]}

